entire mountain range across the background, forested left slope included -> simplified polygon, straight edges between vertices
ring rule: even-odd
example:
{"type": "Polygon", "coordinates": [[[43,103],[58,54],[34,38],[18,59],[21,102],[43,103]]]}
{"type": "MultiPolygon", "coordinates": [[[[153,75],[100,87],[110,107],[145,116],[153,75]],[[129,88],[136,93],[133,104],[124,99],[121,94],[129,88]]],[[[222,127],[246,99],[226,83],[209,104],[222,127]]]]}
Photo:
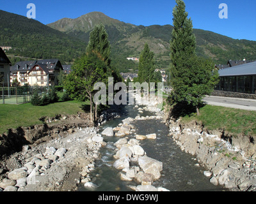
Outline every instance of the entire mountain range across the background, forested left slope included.
{"type": "MultiPolygon", "coordinates": [[[[145,43],[155,53],[156,68],[168,68],[170,64],[172,25],[132,25],[100,12],[88,13],[76,19],[63,18],[44,25],[2,10],[0,22],[0,46],[12,47],[6,51],[12,64],[20,60],[49,58],[72,64],[84,54],[90,31],[100,23],[105,25],[109,34],[112,64],[120,72],[138,69],[138,62],[126,58],[140,57],[145,43]]],[[[197,54],[211,57],[216,64],[227,63],[229,59],[256,59],[256,41],[234,40],[201,29],[194,29],[194,32],[197,54]]]]}

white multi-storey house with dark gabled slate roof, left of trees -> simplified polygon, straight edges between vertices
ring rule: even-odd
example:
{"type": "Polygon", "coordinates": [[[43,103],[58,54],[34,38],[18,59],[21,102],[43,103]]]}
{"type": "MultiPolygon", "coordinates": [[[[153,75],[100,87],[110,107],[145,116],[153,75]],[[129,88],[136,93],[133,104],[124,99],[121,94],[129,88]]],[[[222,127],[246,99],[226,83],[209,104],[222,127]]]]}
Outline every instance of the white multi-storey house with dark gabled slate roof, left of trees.
{"type": "Polygon", "coordinates": [[[58,59],[20,61],[11,68],[11,83],[17,78],[20,85],[58,85],[58,74],[63,66],[58,59]]]}

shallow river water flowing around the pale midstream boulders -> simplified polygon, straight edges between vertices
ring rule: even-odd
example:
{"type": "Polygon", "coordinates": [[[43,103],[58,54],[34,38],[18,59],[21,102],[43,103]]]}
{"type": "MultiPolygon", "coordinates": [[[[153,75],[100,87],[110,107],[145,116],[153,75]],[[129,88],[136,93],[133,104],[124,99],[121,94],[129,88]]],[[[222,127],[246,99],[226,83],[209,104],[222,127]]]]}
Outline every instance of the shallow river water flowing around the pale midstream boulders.
{"type": "MultiPolygon", "coordinates": [[[[143,106],[139,106],[143,107],[143,106]]],[[[100,133],[104,128],[115,128],[127,117],[136,117],[138,108],[133,105],[124,106],[121,117],[109,120],[100,128],[100,133]]],[[[143,110],[141,116],[155,115],[152,112],[143,110]]],[[[205,177],[203,172],[205,169],[197,166],[195,157],[182,152],[178,145],[168,136],[168,127],[161,120],[136,120],[133,123],[136,127],[136,133],[139,135],[147,135],[156,133],[156,140],[142,140],[141,147],[147,152],[148,157],[152,157],[163,163],[163,171],[161,178],[153,184],[155,187],[165,187],[170,191],[223,191],[220,186],[214,186],[209,182],[209,178],[205,177]]],[[[133,135],[129,138],[134,138],[133,135]]],[[[120,138],[104,137],[107,142],[106,147],[101,149],[101,159],[95,161],[95,171],[90,174],[92,182],[99,186],[96,191],[131,191],[127,185],[137,186],[134,182],[125,182],[120,180],[118,172],[112,165],[115,162],[113,155],[115,154],[115,143],[120,138]]],[[[88,191],[83,184],[78,186],[78,191],[88,191]]]]}

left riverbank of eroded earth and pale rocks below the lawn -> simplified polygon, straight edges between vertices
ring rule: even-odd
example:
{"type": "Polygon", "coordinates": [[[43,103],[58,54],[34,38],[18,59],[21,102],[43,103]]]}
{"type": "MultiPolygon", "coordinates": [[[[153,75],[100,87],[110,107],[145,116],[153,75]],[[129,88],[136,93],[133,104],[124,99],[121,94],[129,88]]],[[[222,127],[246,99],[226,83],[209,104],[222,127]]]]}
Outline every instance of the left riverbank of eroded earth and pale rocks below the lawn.
{"type": "Polygon", "coordinates": [[[99,149],[106,145],[89,121],[88,114],[77,113],[45,118],[44,125],[9,131],[1,143],[9,154],[1,159],[0,190],[76,189],[77,182],[93,170],[99,149]]]}

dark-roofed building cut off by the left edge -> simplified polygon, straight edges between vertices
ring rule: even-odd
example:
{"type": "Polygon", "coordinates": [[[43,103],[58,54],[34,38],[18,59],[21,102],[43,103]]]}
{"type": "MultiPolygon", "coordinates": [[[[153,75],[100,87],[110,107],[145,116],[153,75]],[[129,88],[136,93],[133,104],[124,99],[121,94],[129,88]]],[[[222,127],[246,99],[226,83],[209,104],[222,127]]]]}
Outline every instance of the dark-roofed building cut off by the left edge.
{"type": "Polygon", "coordinates": [[[10,65],[11,62],[4,53],[4,50],[0,48],[0,84],[4,87],[8,86],[10,81],[10,65]]]}

